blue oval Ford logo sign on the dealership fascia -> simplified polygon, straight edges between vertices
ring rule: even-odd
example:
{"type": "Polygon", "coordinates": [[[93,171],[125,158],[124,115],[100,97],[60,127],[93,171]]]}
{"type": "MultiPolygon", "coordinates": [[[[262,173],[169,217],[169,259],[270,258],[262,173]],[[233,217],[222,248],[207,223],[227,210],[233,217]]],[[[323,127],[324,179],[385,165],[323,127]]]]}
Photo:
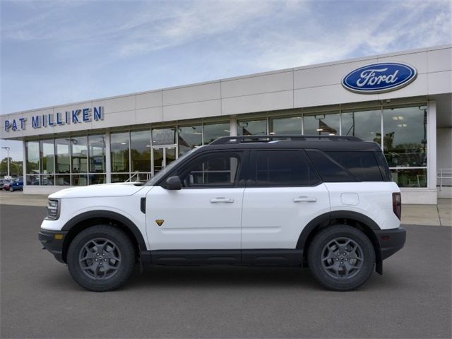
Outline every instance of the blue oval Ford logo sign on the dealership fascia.
{"type": "Polygon", "coordinates": [[[356,93],[383,93],[403,88],[416,76],[416,69],[408,64],[379,62],[351,71],[342,79],[342,85],[356,93]]]}

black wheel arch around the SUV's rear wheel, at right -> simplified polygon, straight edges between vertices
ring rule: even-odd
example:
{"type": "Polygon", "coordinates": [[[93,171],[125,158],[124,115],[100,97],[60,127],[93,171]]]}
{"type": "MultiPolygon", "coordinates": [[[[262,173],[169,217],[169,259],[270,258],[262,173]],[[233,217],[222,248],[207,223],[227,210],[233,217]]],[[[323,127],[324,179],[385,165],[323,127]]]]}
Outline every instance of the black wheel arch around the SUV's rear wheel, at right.
{"type": "Polygon", "coordinates": [[[379,225],[362,213],[357,213],[348,210],[337,210],[329,213],[319,215],[309,222],[302,230],[297,241],[297,249],[303,249],[303,261],[307,262],[307,253],[309,244],[319,230],[329,225],[340,223],[343,225],[350,225],[357,228],[367,235],[375,251],[375,270],[377,273],[383,273],[383,259],[381,258],[381,245],[374,230],[381,230],[379,225]]]}

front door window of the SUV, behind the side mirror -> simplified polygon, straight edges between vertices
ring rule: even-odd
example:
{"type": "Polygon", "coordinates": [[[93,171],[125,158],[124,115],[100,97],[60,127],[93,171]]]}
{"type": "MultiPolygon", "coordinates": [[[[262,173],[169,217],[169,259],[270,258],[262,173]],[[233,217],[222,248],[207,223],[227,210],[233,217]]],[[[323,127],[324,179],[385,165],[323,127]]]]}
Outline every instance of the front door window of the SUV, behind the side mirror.
{"type": "Polygon", "coordinates": [[[239,153],[210,153],[190,162],[181,174],[184,187],[234,187],[237,185],[239,153]]]}

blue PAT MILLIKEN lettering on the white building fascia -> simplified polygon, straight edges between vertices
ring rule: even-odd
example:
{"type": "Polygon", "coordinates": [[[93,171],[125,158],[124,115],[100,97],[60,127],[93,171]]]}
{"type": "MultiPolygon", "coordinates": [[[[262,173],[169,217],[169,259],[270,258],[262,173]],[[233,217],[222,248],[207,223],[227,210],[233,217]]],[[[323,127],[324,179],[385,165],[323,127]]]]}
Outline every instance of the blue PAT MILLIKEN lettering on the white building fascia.
{"type": "Polygon", "coordinates": [[[41,129],[52,126],[61,126],[69,124],[83,124],[91,121],[100,121],[104,119],[104,107],[93,107],[72,109],[66,112],[57,112],[50,114],[36,114],[27,118],[18,118],[5,120],[4,130],[9,131],[23,131],[26,126],[30,124],[33,129],[41,129]]]}

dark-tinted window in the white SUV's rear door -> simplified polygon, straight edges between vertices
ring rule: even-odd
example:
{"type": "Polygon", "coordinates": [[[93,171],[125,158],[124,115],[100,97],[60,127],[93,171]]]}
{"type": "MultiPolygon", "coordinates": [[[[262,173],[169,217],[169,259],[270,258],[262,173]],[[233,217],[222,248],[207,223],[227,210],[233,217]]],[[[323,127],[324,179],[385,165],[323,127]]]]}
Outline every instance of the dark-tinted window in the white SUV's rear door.
{"type": "Polygon", "coordinates": [[[300,150],[256,150],[248,186],[313,186],[321,179],[300,150]]]}

